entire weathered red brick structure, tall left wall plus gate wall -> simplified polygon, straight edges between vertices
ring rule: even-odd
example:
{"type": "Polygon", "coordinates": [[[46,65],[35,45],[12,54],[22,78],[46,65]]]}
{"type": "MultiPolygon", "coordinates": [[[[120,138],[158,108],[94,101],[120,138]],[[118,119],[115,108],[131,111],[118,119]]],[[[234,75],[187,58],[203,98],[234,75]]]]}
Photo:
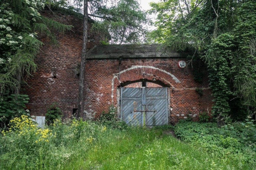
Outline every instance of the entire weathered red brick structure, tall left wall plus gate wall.
{"type": "MultiPolygon", "coordinates": [[[[52,17],[50,11],[42,11],[42,15],[52,17]]],[[[58,103],[64,117],[72,115],[77,108],[78,81],[76,75],[81,57],[82,21],[72,16],[58,13],[59,21],[74,27],[65,34],[58,34],[59,46],[52,45],[44,36],[39,37],[44,46],[36,57],[37,72],[23,86],[29,95],[27,108],[36,116],[44,116],[47,108],[58,103]]],[[[90,30],[91,24],[89,24],[90,30]]],[[[88,50],[105,40],[98,32],[88,33],[94,42],[88,42],[88,50]]],[[[211,113],[212,96],[208,86],[207,75],[203,83],[194,81],[193,69],[180,69],[179,60],[186,58],[123,58],[120,64],[117,58],[88,59],[85,75],[85,110],[88,119],[99,117],[102,111],[108,110],[111,104],[119,107],[120,87],[127,84],[148,80],[168,87],[169,122],[191,116],[198,120],[199,112],[209,110],[211,113]],[[176,78],[174,78],[174,77],[176,78]],[[203,88],[200,96],[197,88],[203,88]]],[[[193,63],[197,68],[199,63],[193,63]]]]}

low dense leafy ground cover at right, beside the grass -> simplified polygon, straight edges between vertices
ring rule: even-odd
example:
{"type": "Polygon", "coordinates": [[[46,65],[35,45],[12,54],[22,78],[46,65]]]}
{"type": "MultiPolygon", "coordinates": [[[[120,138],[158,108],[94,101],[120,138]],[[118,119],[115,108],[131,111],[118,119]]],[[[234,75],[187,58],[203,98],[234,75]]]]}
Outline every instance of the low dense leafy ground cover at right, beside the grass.
{"type": "Polygon", "coordinates": [[[216,123],[180,122],[175,135],[182,141],[203,147],[223,159],[229,157],[244,164],[256,162],[256,127],[253,121],[217,128],[216,123]]]}

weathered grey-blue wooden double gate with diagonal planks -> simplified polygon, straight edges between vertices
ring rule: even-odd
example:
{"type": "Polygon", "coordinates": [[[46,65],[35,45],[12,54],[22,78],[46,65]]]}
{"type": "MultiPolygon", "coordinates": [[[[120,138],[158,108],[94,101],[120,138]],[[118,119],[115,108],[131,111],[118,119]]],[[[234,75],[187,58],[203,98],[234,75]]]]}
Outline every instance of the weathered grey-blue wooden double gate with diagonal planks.
{"type": "Polygon", "coordinates": [[[121,120],[128,125],[168,123],[167,88],[121,88],[121,120]]]}

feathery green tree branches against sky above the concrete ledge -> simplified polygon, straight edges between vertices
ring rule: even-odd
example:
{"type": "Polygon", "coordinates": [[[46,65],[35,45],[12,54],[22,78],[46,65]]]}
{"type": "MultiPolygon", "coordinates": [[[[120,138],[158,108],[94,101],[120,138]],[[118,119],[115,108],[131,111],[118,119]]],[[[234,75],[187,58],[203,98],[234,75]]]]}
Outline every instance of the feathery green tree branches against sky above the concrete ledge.
{"type": "MultiPolygon", "coordinates": [[[[83,0],[52,2],[56,5],[83,13],[83,0]]],[[[88,16],[95,20],[93,29],[110,34],[111,43],[145,42],[145,25],[151,24],[137,0],[88,0],[88,16]]]]}

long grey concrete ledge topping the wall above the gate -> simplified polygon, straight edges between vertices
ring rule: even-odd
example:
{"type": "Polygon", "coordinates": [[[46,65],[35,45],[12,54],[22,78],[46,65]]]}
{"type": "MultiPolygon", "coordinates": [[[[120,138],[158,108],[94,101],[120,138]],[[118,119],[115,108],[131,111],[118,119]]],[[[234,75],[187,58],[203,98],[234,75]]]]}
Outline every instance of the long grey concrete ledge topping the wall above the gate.
{"type": "Polygon", "coordinates": [[[169,52],[160,44],[98,45],[87,52],[87,59],[123,58],[185,58],[194,52],[169,52]]]}

